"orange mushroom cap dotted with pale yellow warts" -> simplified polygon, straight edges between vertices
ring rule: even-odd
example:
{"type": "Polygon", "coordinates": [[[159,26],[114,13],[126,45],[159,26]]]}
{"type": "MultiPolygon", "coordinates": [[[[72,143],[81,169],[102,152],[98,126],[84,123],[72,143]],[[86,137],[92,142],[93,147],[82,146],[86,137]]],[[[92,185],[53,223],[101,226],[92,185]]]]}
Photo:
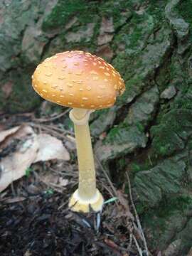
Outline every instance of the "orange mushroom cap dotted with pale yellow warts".
{"type": "Polygon", "coordinates": [[[124,81],[112,65],[80,50],[46,58],[33,73],[32,84],[50,102],[93,110],[111,107],[124,92],[124,81]]]}

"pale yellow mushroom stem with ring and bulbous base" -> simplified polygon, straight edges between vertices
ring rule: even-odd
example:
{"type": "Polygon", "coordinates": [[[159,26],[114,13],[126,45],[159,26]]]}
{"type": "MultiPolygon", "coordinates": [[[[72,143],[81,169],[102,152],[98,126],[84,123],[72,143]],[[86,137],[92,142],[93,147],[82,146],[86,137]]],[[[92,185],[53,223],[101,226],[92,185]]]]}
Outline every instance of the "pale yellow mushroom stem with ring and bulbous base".
{"type": "Polygon", "coordinates": [[[103,198],[96,188],[95,165],[89,129],[90,110],[73,109],[70,119],[74,122],[75,139],[78,151],[79,185],[70,199],[74,211],[87,213],[102,209],[103,198]]]}

